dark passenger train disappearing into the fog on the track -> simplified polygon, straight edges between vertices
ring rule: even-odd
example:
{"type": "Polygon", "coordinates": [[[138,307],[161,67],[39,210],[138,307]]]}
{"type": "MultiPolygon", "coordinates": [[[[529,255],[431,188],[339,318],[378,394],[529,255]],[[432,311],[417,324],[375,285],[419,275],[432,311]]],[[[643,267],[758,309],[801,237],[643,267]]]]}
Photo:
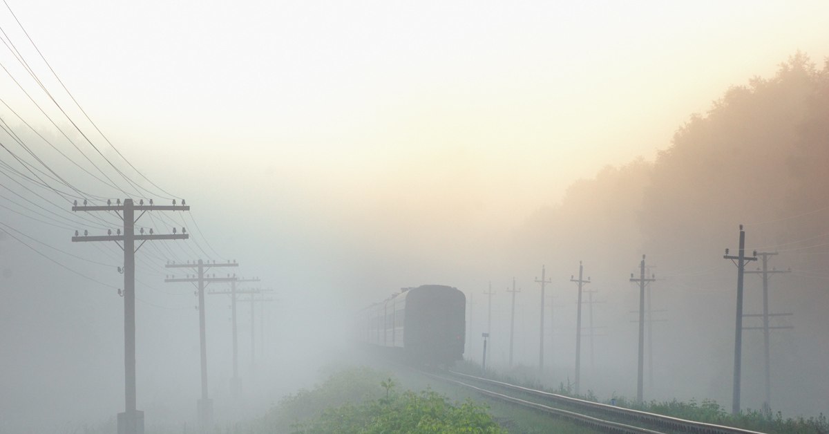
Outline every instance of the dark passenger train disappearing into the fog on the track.
{"type": "Polygon", "coordinates": [[[410,363],[450,366],[463,359],[466,295],[447,285],[403,288],[358,313],[356,339],[410,363]]]}

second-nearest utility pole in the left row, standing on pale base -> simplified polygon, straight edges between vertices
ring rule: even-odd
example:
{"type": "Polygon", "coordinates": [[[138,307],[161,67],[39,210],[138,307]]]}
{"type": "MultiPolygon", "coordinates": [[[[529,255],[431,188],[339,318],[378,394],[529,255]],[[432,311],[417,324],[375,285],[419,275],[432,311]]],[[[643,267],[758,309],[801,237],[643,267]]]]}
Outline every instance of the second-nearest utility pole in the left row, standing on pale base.
{"type": "Polygon", "coordinates": [[[187,261],[187,264],[177,264],[175,262],[170,262],[165,265],[165,268],[187,268],[189,270],[195,271],[195,275],[187,275],[187,277],[174,277],[174,276],[167,276],[164,279],[165,283],[176,283],[176,282],[190,282],[196,284],[196,295],[199,297],[199,344],[201,348],[201,399],[196,401],[196,413],[198,414],[198,421],[199,421],[199,429],[201,432],[206,432],[210,429],[212,422],[213,422],[213,400],[207,397],[207,332],[205,326],[205,315],[206,315],[206,306],[205,306],[205,288],[207,285],[210,285],[212,282],[232,282],[236,280],[236,276],[227,277],[216,277],[213,276],[206,276],[206,272],[211,270],[211,268],[220,268],[220,267],[227,267],[227,266],[239,266],[235,261],[230,262],[219,262],[213,261],[202,261],[201,259],[198,261],[187,261]]]}

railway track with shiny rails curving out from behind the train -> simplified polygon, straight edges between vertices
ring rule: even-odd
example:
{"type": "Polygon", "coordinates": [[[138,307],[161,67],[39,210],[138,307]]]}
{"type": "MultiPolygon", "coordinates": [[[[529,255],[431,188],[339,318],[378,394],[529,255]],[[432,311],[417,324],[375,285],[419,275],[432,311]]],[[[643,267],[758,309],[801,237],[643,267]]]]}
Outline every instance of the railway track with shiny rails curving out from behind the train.
{"type": "Polygon", "coordinates": [[[704,422],[693,422],[677,417],[615,407],[599,402],[566,397],[515,384],[499,382],[465,373],[446,371],[429,373],[419,371],[430,378],[468,388],[476,393],[502,402],[529,407],[554,417],[593,428],[600,432],[624,434],[666,434],[692,432],[699,434],[763,434],[741,428],[725,427],[704,422]],[[476,385],[477,384],[477,385],[476,385]],[[517,396],[516,396],[517,395],[517,396]],[[533,399],[526,399],[532,397],[533,399]],[[562,408],[564,407],[564,408],[562,408]]]}

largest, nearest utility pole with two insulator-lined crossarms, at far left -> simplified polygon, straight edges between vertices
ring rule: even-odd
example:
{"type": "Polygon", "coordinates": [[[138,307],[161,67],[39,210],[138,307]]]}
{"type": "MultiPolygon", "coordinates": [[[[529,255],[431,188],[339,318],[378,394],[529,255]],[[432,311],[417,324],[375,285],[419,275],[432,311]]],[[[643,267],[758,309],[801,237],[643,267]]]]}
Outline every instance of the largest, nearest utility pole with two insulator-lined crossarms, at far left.
{"type": "Polygon", "coordinates": [[[89,236],[84,231],[84,235],[80,237],[75,231],[75,237],[72,237],[73,242],[85,241],[115,241],[122,242],[119,246],[124,250],[124,395],[125,406],[124,412],[118,413],[118,433],[119,434],[143,434],[144,432],[144,412],[136,409],[135,397],[135,252],[143,246],[147,241],[154,240],[186,240],[189,235],[182,227],[182,233],[176,234],[176,228],[172,229],[172,234],[153,235],[153,230],[150,229],[149,234],[145,235],[143,228],[139,235],[135,235],[135,222],[138,218],[148,211],[190,211],[190,207],[185,205],[182,200],[181,205],[176,205],[176,201],[172,201],[172,206],[156,206],[153,201],[149,201],[149,205],[144,205],[143,199],[135,205],[133,199],[124,199],[124,203],[118,199],[115,205],[111,201],[107,201],[105,206],[87,206],[86,201],[79,206],[78,201],[75,201],[72,211],[113,211],[121,220],[124,221],[124,233],[121,229],[116,235],[105,236],[89,236]],[[135,217],[135,212],[140,211],[138,218],[135,217]],[[135,246],[135,241],[141,241],[138,247],[135,246]]]}

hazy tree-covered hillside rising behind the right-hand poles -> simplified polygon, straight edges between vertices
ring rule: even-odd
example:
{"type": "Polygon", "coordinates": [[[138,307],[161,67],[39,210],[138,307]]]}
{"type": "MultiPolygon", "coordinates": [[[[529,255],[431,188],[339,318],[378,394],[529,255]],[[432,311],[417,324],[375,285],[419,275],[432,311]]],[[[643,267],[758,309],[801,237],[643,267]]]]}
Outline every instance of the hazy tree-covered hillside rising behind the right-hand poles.
{"type": "MultiPolygon", "coordinates": [[[[725,248],[736,252],[741,224],[749,255],[778,252],[770,267],[791,269],[774,278],[770,302],[772,310],[793,313],[773,318],[775,326],[793,326],[773,334],[773,383],[791,397],[788,407],[783,398],[777,407],[825,411],[816,400],[829,388],[821,368],[829,352],[814,343],[829,329],[829,59],[817,66],[797,52],[774,76],[730,87],[707,113],[691,115],[654,161],[608,166],[572,184],[560,203],[516,231],[515,249],[528,260],[553,255],[570,269],[584,258],[594,273],[620,282],[619,290],[605,288],[609,297],[615,291],[628,299],[625,277],[647,254],[658,264],[653,274],[664,279],[654,295],[667,308],[663,327],[676,329],[672,342],[661,344],[669,354],[663,359],[701,365],[664,373],[703,380],[706,393],[723,401],[730,397],[736,293],[735,267],[723,255],[725,248]]],[[[759,261],[749,264],[755,266],[759,261]]],[[[746,277],[746,312],[762,309],[759,281],[746,277]]],[[[749,396],[762,395],[759,335],[747,331],[744,339],[749,396]]]]}

